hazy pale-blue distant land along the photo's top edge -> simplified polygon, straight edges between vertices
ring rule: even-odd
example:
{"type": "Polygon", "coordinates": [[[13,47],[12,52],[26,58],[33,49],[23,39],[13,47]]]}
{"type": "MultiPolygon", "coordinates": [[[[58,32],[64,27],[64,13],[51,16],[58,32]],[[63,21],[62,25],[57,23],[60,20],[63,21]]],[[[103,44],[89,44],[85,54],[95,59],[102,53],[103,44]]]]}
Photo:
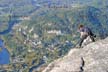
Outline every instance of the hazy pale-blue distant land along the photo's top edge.
{"type": "Polygon", "coordinates": [[[37,10],[37,8],[44,7],[44,6],[52,6],[52,5],[67,5],[71,6],[73,4],[80,4],[80,5],[90,5],[96,7],[102,7],[108,4],[107,0],[95,1],[95,0],[1,0],[0,1],[0,8],[3,8],[2,11],[5,13],[12,12],[16,15],[28,15],[31,12],[37,10]],[[101,5],[101,6],[100,6],[101,5]]]}

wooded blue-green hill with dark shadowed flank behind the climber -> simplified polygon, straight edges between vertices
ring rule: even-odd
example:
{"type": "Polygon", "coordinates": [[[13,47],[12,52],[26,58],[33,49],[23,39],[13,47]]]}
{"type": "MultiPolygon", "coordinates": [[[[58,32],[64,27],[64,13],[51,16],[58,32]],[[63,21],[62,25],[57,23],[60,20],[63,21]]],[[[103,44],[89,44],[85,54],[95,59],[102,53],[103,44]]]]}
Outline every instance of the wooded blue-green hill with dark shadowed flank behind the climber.
{"type": "MultiPolygon", "coordinates": [[[[79,24],[89,26],[94,33],[99,37],[106,37],[107,30],[107,6],[97,8],[94,6],[78,6],[75,8],[61,9],[61,8],[40,8],[30,15],[30,22],[26,25],[40,26],[43,31],[57,29],[63,33],[76,33],[79,24]],[[33,23],[31,23],[33,22],[33,23]],[[48,26],[48,23],[52,25],[48,26]]],[[[22,24],[23,25],[23,24],[22,24]]]]}

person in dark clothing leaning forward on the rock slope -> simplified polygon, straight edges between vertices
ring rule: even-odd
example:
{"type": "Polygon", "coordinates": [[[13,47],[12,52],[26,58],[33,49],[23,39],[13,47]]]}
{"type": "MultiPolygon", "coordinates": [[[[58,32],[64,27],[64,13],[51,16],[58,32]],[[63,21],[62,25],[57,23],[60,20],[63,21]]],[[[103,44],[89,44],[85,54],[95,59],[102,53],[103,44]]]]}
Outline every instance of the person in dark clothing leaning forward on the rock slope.
{"type": "Polygon", "coordinates": [[[85,27],[84,25],[79,25],[78,32],[80,32],[80,42],[79,48],[82,46],[83,41],[89,36],[92,42],[95,42],[94,35],[89,27],[85,27]]]}

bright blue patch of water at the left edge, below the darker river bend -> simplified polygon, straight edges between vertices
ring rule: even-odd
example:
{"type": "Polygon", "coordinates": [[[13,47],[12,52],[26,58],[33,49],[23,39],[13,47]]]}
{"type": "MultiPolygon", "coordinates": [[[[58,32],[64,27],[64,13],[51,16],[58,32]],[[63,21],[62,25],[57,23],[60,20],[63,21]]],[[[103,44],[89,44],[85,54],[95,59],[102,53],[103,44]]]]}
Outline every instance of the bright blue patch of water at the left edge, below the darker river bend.
{"type": "Polygon", "coordinates": [[[4,47],[3,40],[0,39],[0,65],[9,64],[10,63],[10,54],[8,50],[4,47]]]}

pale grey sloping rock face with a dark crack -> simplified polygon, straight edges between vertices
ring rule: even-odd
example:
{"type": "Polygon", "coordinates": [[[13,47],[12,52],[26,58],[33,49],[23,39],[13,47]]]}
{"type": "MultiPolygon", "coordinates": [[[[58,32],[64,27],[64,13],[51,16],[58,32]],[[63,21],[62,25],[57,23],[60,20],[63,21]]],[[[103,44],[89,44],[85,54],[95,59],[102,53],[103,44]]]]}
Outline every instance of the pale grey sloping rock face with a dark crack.
{"type": "Polygon", "coordinates": [[[108,38],[71,49],[55,60],[43,72],[108,72],[108,38]]]}

